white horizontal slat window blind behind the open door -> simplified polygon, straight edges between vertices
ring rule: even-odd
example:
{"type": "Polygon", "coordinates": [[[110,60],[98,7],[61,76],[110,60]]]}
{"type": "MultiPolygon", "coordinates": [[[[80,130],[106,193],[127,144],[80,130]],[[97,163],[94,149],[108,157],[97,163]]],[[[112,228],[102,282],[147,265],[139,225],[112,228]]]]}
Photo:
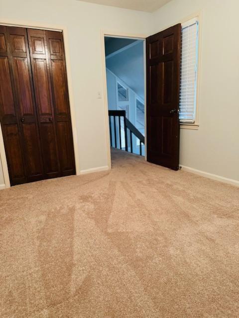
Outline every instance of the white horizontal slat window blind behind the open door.
{"type": "Polygon", "coordinates": [[[194,123],[196,116],[198,68],[198,19],[182,24],[181,78],[179,119],[182,123],[194,123]]]}

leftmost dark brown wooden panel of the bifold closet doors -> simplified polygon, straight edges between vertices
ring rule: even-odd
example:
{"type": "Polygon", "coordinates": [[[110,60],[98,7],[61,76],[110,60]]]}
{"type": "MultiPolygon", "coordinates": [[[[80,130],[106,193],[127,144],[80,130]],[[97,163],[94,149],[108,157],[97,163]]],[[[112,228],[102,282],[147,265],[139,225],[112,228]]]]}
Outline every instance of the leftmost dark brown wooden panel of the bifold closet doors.
{"type": "Polygon", "coordinates": [[[11,185],[27,181],[16,106],[7,32],[0,25],[0,123],[11,185]]]}

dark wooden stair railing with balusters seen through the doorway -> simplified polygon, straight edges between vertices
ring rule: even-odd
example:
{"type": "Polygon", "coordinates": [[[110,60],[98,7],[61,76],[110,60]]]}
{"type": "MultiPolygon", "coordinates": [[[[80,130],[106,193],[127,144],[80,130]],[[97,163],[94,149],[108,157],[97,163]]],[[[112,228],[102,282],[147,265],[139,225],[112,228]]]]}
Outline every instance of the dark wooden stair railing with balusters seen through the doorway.
{"type": "Polygon", "coordinates": [[[125,110],[109,110],[109,122],[110,122],[110,140],[111,147],[113,147],[113,133],[112,133],[112,117],[113,117],[113,125],[114,125],[114,144],[115,148],[118,148],[117,142],[117,128],[119,129],[119,149],[122,149],[121,142],[121,117],[123,118],[123,129],[124,129],[124,139],[125,139],[125,151],[128,151],[128,131],[129,131],[129,140],[130,140],[130,152],[133,153],[133,142],[132,135],[139,139],[139,154],[142,156],[142,145],[144,145],[144,136],[140,133],[140,131],[126,118],[125,110]],[[119,121],[119,125],[117,127],[117,117],[119,121]]]}

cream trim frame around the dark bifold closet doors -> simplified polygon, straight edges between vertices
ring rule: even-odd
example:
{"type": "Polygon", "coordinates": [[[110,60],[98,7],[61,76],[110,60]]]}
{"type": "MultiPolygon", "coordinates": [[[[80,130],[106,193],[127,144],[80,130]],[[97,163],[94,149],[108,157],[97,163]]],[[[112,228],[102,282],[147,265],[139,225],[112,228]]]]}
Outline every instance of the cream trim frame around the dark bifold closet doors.
{"type": "MultiPolygon", "coordinates": [[[[20,20],[9,20],[1,19],[1,25],[6,26],[17,26],[24,28],[34,28],[34,29],[43,29],[51,31],[61,31],[63,32],[63,41],[65,48],[65,59],[66,59],[66,73],[67,73],[67,82],[68,82],[68,92],[69,92],[69,101],[70,101],[70,111],[71,111],[71,125],[72,125],[72,134],[73,134],[73,145],[74,145],[74,155],[75,155],[75,165],[76,165],[76,175],[80,175],[80,161],[79,161],[79,149],[78,149],[78,140],[77,140],[77,130],[76,130],[76,115],[74,107],[74,98],[72,90],[72,77],[71,77],[71,65],[70,65],[70,53],[69,53],[69,44],[68,44],[68,30],[66,26],[47,24],[47,23],[32,23],[29,21],[20,21],[20,20]]],[[[3,178],[5,183],[5,188],[10,187],[9,173],[6,161],[6,153],[3,144],[3,136],[0,127],[0,160],[3,170],[3,178]]]]}

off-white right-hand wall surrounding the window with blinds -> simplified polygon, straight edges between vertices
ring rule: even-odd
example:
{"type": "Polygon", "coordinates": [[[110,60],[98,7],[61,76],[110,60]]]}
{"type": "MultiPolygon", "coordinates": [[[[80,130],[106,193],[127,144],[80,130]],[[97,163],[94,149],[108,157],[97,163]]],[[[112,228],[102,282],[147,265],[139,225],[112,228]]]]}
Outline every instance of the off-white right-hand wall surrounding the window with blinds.
{"type": "Polygon", "coordinates": [[[239,180],[238,0],[172,0],[154,33],[202,12],[199,130],[181,129],[180,163],[239,180]]]}

